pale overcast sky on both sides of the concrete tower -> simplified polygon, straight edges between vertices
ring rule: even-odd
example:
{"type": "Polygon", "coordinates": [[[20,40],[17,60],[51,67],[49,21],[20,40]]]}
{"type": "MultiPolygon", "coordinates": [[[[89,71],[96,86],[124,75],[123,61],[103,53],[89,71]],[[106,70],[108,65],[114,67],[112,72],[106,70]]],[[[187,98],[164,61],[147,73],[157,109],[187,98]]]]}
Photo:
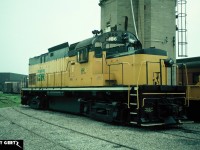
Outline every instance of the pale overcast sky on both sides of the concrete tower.
{"type": "MultiPolygon", "coordinates": [[[[99,0],[0,0],[0,72],[28,74],[28,59],[100,29],[99,0]]],[[[188,55],[200,56],[200,0],[188,0],[188,55]]]]}

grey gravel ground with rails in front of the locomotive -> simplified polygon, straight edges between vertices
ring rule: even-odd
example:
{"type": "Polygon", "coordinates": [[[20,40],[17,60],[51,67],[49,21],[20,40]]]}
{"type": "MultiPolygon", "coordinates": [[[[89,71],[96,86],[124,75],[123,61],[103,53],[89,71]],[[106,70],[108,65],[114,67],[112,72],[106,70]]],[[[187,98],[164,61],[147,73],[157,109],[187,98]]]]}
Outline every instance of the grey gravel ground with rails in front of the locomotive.
{"type": "Polygon", "coordinates": [[[20,106],[0,109],[0,139],[23,139],[26,150],[195,150],[200,147],[200,126],[117,126],[20,106]]]}

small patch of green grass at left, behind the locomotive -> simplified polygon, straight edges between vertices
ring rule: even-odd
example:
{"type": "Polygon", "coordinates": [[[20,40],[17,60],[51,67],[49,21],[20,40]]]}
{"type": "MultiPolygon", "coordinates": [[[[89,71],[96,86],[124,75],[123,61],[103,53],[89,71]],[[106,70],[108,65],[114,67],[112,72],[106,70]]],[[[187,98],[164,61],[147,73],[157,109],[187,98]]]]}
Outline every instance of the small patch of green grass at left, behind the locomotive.
{"type": "Polygon", "coordinates": [[[0,92],[0,108],[19,106],[20,103],[20,94],[5,94],[0,92]]]}

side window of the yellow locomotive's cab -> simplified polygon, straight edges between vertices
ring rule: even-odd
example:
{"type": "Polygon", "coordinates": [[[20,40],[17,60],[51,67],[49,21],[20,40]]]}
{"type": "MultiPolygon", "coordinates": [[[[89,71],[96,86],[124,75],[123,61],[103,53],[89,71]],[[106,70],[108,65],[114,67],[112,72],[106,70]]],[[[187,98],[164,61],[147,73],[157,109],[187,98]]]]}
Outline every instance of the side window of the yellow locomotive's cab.
{"type": "Polygon", "coordinates": [[[77,62],[85,63],[88,62],[88,49],[81,48],[77,50],[77,62]]]}

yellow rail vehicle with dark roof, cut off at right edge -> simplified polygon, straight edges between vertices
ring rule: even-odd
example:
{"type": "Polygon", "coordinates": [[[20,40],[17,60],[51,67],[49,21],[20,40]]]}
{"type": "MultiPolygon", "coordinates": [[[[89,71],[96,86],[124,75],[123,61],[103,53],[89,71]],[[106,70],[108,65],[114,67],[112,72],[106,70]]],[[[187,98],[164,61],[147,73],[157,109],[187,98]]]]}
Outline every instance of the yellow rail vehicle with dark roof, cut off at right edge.
{"type": "Polygon", "coordinates": [[[177,60],[179,69],[177,81],[187,85],[187,116],[191,120],[200,120],[200,57],[177,60]]]}

